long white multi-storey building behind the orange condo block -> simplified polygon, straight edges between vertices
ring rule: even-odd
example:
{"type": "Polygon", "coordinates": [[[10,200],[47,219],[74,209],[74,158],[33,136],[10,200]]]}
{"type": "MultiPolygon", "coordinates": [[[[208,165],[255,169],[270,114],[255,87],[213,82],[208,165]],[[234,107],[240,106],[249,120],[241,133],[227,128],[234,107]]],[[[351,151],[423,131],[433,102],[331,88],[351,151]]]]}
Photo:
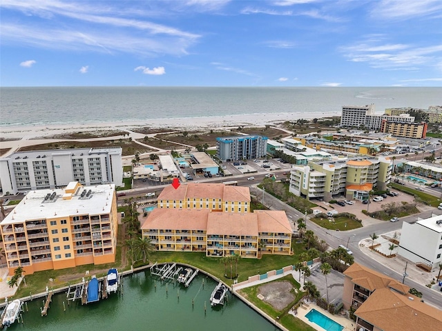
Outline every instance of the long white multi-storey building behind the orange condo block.
{"type": "Polygon", "coordinates": [[[3,194],[42,188],[123,184],[122,148],[73,148],[15,152],[0,159],[3,194]]]}

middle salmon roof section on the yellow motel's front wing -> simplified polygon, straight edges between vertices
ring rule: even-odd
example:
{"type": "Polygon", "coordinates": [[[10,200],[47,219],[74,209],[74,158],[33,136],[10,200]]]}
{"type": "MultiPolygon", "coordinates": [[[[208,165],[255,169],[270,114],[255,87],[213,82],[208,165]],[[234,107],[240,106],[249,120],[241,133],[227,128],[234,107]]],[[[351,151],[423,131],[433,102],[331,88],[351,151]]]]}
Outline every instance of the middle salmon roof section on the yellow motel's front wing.
{"type": "Polygon", "coordinates": [[[258,237],[256,214],[211,212],[207,219],[207,234],[258,237]]]}

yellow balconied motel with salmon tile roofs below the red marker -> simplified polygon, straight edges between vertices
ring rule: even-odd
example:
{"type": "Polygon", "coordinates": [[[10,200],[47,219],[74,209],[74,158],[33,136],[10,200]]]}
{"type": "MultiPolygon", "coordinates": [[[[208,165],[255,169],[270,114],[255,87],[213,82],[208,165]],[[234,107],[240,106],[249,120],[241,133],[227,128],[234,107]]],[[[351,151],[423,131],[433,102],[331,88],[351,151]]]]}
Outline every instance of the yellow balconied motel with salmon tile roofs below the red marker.
{"type": "Polygon", "coordinates": [[[156,250],[206,252],[207,257],[292,254],[284,211],[250,210],[249,188],[189,183],[164,188],[142,225],[156,250]]]}

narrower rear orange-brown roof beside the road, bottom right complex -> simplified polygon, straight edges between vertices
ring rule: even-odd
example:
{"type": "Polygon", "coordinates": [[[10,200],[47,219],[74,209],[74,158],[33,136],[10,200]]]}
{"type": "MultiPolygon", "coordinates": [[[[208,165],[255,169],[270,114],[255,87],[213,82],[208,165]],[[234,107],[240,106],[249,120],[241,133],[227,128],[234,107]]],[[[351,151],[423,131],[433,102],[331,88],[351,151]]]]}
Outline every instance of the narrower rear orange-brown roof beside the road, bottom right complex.
{"type": "Polygon", "coordinates": [[[369,291],[374,291],[378,288],[395,288],[403,293],[407,293],[410,287],[403,285],[390,277],[374,271],[358,263],[353,263],[344,272],[345,276],[352,279],[352,282],[366,288],[369,291]]]}

